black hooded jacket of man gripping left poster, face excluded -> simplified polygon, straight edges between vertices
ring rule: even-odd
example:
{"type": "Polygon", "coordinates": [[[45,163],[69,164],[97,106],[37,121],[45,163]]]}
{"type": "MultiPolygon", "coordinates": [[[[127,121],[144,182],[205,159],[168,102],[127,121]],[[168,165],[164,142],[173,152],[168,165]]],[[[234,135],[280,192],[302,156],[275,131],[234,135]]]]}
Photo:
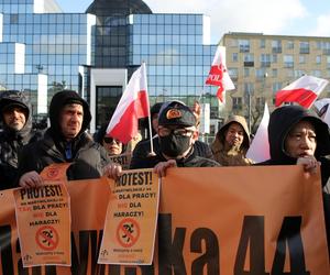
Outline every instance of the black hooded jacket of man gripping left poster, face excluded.
{"type": "Polygon", "coordinates": [[[87,179],[98,178],[102,175],[102,168],[110,163],[106,150],[87,134],[85,131],[91,116],[87,102],[76,91],[64,90],[55,94],[50,106],[51,128],[44,139],[24,147],[20,157],[19,173],[22,176],[30,170],[41,172],[53,163],[73,163],[67,170],[67,178],[87,179]],[[69,101],[79,101],[84,108],[81,130],[70,141],[72,158],[65,154],[67,141],[62,134],[59,125],[59,112],[69,101]]]}

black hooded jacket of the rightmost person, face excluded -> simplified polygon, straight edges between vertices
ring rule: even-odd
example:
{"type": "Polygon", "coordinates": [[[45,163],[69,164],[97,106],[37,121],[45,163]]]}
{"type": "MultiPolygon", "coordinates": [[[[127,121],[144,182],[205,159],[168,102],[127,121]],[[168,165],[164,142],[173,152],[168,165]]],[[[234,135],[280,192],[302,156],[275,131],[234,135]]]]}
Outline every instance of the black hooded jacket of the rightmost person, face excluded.
{"type": "MultiPolygon", "coordinates": [[[[324,187],[330,175],[330,161],[327,155],[330,154],[330,135],[328,125],[310,110],[300,106],[284,106],[275,109],[271,114],[268,123],[268,141],[271,160],[258,165],[294,165],[304,156],[297,158],[287,153],[285,145],[292,130],[301,122],[309,122],[315,129],[316,150],[314,157],[321,164],[321,182],[324,187]]],[[[297,133],[296,139],[305,139],[297,133]]],[[[301,145],[306,146],[307,145],[301,145]]],[[[330,242],[330,195],[323,189],[323,207],[326,215],[326,228],[328,243],[330,242]]],[[[328,245],[328,249],[330,245],[328,245]]]]}

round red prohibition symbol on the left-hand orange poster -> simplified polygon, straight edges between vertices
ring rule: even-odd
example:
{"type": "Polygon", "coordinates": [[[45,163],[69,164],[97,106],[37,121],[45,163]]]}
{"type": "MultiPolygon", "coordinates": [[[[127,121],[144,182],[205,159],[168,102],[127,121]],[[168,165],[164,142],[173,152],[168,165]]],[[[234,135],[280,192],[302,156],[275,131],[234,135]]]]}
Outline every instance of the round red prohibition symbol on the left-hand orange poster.
{"type": "Polygon", "coordinates": [[[35,233],[37,245],[46,251],[52,251],[57,248],[58,233],[53,227],[42,227],[35,233]]]}

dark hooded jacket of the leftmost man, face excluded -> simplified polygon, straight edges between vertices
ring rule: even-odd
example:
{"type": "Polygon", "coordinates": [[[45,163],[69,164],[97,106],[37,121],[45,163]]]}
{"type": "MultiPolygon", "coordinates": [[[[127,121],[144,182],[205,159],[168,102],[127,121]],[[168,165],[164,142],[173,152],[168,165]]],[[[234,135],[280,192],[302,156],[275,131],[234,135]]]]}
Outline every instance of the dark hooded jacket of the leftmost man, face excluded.
{"type": "MultiPolygon", "coordinates": [[[[0,98],[0,113],[8,105],[19,105],[26,110],[25,124],[20,131],[13,131],[3,124],[0,133],[0,190],[13,188],[18,177],[19,154],[22,147],[42,138],[42,132],[32,129],[31,103],[21,91],[8,90],[0,98]]],[[[1,120],[3,120],[1,116],[1,120]]]]}

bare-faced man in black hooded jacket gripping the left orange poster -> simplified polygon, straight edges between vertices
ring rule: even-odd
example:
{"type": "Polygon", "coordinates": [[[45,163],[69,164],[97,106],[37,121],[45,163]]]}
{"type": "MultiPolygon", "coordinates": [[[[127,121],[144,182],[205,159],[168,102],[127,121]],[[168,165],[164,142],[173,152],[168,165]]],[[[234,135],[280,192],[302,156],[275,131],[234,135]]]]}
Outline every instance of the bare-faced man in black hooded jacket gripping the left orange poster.
{"type": "Polygon", "coordinates": [[[85,132],[91,120],[87,102],[76,91],[59,91],[52,99],[50,120],[44,139],[22,152],[20,185],[41,184],[37,174],[53,163],[73,163],[67,170],[68,179],[100,177],[110,160],[106,150],[85,132]]]}

